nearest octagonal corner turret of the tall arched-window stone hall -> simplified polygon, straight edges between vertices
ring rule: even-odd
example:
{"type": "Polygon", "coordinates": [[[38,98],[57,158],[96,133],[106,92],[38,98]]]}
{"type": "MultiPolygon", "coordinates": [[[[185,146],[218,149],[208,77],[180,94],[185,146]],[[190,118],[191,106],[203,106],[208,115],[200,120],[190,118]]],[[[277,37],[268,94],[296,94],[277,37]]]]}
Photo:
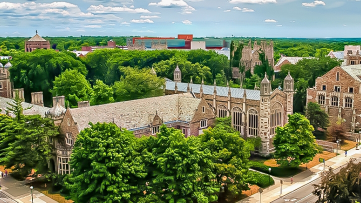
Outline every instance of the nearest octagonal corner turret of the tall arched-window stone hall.
{"type": "Polygon", "coordinates": [[[264,78],[260,83],[260,99],[259,99],[259,137],[262,141],[261,154],[269,153],[270,140],[270,82],[267,78],[267,73],[264,73],[264,78]]]}

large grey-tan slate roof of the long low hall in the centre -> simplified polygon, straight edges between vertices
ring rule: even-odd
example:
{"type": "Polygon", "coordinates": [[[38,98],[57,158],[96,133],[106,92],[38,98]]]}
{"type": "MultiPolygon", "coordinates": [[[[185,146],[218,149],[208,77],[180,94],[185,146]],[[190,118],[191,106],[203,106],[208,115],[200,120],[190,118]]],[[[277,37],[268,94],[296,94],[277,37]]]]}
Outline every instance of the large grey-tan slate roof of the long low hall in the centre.
{"type": "Polygon", "coordinates": [[[78,130],[88,123],[112,122],[121,128],[147,127],[157,113],[163,122],[192,120],[199,103],[190,93],[142,98],[102,105],[68,109],[77,123],[78,130]]]}

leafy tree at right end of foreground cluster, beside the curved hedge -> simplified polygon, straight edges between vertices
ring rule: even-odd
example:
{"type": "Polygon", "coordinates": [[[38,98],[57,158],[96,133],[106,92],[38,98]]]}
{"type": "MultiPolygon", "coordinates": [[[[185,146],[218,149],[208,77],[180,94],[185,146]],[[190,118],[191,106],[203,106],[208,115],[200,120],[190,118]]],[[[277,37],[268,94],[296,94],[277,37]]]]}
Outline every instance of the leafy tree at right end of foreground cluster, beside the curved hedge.
{"type": "Polygon", "coordinates": [[[204,129],[198,136],[203,150],[212,151],[212,173],[220,188],[218,201],[248,189],[248,158],[253,145],[244,141],[230,124],[230,117],[216,118],[215,126],[204,129]]]}

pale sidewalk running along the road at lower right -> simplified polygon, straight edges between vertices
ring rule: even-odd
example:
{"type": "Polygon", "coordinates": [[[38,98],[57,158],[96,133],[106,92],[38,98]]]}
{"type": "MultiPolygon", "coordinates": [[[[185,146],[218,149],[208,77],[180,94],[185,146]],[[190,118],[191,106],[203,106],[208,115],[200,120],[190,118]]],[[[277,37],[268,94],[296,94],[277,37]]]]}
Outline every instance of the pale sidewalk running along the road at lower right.
{"type": "MultiPolygon", "coordinates": [[[[338,150],[338,153],[340,153],[340,150],[338,150]]],[[[338,156],[326,160],[325,169],[327,169],[328,166],[331,166],[332,168],[337,168],[339,166],[344,165],[350,158],[359,158],[359,157],[361,157],[361,150],[356,150],[355,148],[352,148],[347,151],[347,157],[345,157],[343,152],[338,156]]],[[[320,173],[322,172],[322,170],[323,170],[323,163],[319,163],[318,165],[309,168],[309,170],[300,172],[297,175],[293,176],[293,184],[290,183],[290,178],[279,178],[279,177],[271,176],[274,179],[275,184],[271,185],[269,188],[263,189],[262,197],[261,197],[262,202],[271,202],[279,198],[280,196],[284,196],[298,189],[299,187],[308,184],[309,182],[320,177],[320,173]],[[283,180],[282,194],[280,194],[279,180],[283,180]]],[[[258,203],[259,192],[245,199],[237,201],[237,203],[240,202],[258,203]]]]}

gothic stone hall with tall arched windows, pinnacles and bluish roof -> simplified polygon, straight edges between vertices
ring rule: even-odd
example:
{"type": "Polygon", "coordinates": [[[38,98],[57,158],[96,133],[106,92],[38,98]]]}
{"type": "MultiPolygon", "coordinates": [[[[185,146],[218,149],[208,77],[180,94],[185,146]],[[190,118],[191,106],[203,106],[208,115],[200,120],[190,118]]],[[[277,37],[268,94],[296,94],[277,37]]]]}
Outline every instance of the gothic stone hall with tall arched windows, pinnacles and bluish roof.
{"type": "Polygon", "coordinates": [[[273,150],[271,138],[275,128],[287,122],[287,115],[293,111],[293,78],[284,79],[283,91],[271,90],[265,76],[260,90],[231,88],[225,86],[183,83],[179,81],[180,70],[174,70],[174,80],[166,81],[165,94],[190,92],[206,101],[217,117],[232,117],[232,126],[243,137],[259,136],[262,140],[261,154],[273,150]]]}

